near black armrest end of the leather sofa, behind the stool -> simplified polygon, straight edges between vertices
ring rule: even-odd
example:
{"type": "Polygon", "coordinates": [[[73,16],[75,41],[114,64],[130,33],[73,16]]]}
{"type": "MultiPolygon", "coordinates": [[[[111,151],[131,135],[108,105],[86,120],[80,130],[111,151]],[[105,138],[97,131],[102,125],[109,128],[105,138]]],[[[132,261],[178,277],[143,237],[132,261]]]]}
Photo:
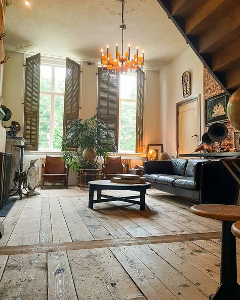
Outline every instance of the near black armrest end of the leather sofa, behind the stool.
{"type": "Polygon", "coordinates": [[[202,202],[237,204],[239,185],[221,162],[202,164],[200,193],[202,202]]]}

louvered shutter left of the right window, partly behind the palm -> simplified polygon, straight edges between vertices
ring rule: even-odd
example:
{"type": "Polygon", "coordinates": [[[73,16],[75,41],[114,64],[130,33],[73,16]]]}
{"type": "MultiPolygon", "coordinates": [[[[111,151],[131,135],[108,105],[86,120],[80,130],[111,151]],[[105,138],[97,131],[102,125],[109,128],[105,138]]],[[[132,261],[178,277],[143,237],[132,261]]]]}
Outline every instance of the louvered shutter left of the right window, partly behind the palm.
{"type": "MultiPolygon", "coordinates": [[[[103,120],[118,142],[119,74],[98,68],[98,119],[103,120]]],[[[106,147],[106,141],[102,142],[106,147]]]]}

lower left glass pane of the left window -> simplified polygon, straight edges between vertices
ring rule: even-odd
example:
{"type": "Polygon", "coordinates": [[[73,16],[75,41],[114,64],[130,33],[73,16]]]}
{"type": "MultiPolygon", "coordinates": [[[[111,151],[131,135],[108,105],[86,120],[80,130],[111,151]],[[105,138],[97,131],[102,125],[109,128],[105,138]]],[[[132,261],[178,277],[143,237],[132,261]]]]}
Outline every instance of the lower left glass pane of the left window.
{"type": "Polygon", "coordinates": [[[49,148],[51,97],[40,95],[38,147],[49,148]]]}

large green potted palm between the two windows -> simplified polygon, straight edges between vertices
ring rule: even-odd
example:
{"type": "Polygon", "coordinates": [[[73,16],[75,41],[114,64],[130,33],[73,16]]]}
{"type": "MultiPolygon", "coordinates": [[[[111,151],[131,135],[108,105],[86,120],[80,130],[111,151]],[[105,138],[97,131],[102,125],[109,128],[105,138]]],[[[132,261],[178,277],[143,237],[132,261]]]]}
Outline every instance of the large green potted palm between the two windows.
{"type": "Polygon", "coordinates": [[[116,152],[115,135],[104,121],[97,119],[97,114],[87,120],[74,121],[68,129],[65,139],[62,138],[62,159],[78,171],[78,175],[82,170],[99,170],[99,161],[107,158],[109,152],[116,152]]]}

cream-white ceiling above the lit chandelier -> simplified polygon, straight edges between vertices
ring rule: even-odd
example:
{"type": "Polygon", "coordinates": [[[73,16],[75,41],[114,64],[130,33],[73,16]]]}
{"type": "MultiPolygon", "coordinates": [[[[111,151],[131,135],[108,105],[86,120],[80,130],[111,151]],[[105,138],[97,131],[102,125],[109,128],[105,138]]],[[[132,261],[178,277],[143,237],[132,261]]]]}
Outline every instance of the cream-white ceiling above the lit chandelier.
{"type": "MultiPolygon", "coordinates": [[[[8,0],[4,44],[28,51],[100,61],[107,44],[121,44],[122,3],[118,0],[8,0]]],[[[188,48],[156,0],[127,0],[125,47],[145,50],[146,66],[160,69],[188,48]]]]}

